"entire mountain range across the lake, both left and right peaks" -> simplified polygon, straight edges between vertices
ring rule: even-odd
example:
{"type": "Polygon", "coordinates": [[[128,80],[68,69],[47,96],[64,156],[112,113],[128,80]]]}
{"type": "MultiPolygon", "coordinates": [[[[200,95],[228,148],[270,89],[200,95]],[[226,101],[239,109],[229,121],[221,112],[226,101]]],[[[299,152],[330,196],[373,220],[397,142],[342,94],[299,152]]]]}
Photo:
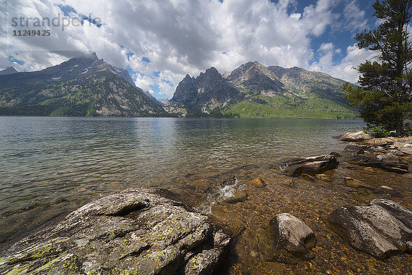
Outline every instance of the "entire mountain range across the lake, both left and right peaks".
{"type": "Polygon", "coordinates": [[[196,78],[187,74],[171,100],[157,100],[136,87],[126,69],[93,53],[36,72],[0,71],[0,115],[354,118],[343,83],[255,61],[225,74],[214,67],[196,78]]]}

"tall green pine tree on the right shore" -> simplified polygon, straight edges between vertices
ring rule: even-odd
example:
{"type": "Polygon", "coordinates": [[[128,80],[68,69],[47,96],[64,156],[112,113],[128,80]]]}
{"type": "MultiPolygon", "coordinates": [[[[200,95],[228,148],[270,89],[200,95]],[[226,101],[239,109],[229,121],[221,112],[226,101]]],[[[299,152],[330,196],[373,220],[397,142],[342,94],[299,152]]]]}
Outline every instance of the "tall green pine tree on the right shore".
{"type": "Polygon", "coordinates": [[[409,36],[412,0],[377,0],[374,17],[381,23],[376,30],[356,34],[359,49],[377,53],[377,61],[358,67],[361,87],[343,85],[345,98],[361,107],[361,118],[404,135],[404,117],[412,111],[412,47],[409,36]]]}

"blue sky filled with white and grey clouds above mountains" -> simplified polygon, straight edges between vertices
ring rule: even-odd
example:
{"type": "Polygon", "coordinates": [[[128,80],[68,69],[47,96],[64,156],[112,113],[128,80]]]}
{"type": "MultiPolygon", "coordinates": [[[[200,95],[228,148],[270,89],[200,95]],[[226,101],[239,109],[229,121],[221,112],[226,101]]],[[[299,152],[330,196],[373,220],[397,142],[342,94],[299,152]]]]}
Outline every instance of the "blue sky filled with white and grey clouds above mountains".
{"type": "Polygon", "coordinates": [[[303,67],[355,83],[374,53],[354,34],[376,27],[374,0],[0,0],[0,69],[34,71],[80,53],[128,69],[171,98],[185,74],[248,61],[303,67]],[[48,22],[49,20],[50,22],[48,22]],[[36,30],[35,36],[14,36],[36,30]],[[38,36],[49,30],[49,36],[38,36]],[[17,33],[15,33],[17,32],[17,33]]]}

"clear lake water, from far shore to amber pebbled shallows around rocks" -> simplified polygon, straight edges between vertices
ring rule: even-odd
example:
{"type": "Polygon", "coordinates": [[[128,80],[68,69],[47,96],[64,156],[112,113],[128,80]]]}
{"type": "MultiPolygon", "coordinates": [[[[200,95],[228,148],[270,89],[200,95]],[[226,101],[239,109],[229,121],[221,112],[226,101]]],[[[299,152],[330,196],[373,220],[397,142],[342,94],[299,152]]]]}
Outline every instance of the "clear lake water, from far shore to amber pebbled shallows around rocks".
{"type": "Polygon", "coordinates": [[[350,153],[314,180],[279,169],[282,159],[341,151],[345,143],[333,136],[361,126],[359,120],[0,117],[0,247],[84,203],[145,186],[172,190],[231,235],[222,274],[412,274],[411,254],[380,261],[354,250],[328,223],[334,209],[377,197],[412,209],[412,174],[354,166],[350,153]],[[347,186],[345,177],[363,186],[347,186]],[[266,186],[253,186],[255,178],[266,186]],[[381,185],[403,197],[375,194],[381,185]],[[307,259],[284,263],[273,249],[268,221],[282,212],[303,219],[317,236],[307,259]]]}

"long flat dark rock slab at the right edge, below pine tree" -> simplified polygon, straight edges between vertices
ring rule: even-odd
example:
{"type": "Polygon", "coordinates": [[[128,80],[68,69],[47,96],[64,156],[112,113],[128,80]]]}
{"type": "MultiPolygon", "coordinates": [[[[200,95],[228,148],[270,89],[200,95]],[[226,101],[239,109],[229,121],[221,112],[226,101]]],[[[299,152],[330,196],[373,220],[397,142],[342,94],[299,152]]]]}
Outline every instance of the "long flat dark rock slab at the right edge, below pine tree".
{"type": "Polygon", "coordinates": [[[377,167],[395,173],[409,173],[409,163],[393,154],[380,154],[374,157],[356,155],[350,159],[352,164],[361,166],[377,167]]]}

